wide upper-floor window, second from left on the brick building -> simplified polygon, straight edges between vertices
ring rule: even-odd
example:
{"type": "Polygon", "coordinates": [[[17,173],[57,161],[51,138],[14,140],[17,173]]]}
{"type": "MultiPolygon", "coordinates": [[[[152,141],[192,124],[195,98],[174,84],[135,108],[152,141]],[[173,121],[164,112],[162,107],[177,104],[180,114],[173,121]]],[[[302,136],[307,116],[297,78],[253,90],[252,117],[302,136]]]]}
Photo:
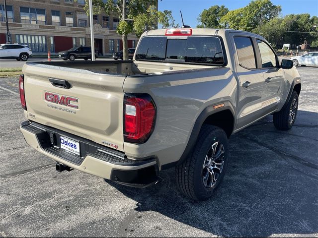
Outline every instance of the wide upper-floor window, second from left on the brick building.
{"type": "Polygon", "coordinates": [[[45,9],[20,7],[21,23],[45,25],[45,9]]]}

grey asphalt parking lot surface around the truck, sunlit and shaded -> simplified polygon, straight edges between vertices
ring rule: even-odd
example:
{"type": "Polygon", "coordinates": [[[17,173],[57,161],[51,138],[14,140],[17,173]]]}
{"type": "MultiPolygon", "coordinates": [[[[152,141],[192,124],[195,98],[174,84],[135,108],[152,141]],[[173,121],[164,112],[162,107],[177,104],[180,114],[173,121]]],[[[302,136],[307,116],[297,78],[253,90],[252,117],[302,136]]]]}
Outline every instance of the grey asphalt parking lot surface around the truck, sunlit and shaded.
{"type": "Polygon", "coordinates": [[[231,136],[227,174],[205,202],[178,192],[173,169],[146,189],[57,173],[19,131],[17,78],[0,79],[0,237],[317,237],[318,68],[298,69],[294,127],[268,116],[231,136]]]}

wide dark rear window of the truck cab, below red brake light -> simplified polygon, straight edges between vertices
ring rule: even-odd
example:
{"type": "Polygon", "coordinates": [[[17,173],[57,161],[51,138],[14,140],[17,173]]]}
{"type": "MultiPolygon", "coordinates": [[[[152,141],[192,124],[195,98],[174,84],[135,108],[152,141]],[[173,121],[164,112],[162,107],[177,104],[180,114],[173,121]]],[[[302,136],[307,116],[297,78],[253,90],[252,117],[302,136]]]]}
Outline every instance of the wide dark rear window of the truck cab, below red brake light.
{"type": "Polygon", "coordinates": [[[143,37],[137,48],[135,59],[211,65],[225,63],[220,38],[210,36],[188,36],[184,39],[143,37]]]}

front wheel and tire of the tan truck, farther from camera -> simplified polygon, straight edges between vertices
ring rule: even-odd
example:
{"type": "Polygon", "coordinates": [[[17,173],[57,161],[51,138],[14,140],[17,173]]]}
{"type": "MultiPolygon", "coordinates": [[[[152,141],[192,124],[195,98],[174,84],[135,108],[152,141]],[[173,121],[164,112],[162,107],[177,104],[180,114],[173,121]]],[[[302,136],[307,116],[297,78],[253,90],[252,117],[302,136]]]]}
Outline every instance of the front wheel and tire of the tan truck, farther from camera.
{"type": "Polygon", "coordinates": [[[274,113],[273,121],[278,130],[289,130],[293,127],[298,111],[298,94],[294,90],[285,107],[274,113]]]}

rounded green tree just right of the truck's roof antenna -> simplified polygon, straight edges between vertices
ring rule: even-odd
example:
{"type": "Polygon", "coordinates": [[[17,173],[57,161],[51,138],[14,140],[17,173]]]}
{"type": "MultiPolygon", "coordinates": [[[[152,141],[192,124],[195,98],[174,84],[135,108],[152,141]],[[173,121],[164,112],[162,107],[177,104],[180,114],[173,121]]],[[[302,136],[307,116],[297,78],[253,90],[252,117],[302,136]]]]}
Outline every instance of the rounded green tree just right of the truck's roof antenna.
{"type": "Polygon", "coordinates": [[[228,12],[229,9],[224,5],[214,5],[209,9],[204,9],[198,17],[200,25],[197,25],[197,28],[221,28],[220,19],[228,12]]]}

